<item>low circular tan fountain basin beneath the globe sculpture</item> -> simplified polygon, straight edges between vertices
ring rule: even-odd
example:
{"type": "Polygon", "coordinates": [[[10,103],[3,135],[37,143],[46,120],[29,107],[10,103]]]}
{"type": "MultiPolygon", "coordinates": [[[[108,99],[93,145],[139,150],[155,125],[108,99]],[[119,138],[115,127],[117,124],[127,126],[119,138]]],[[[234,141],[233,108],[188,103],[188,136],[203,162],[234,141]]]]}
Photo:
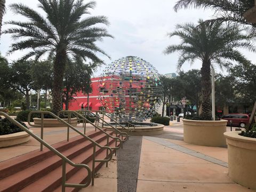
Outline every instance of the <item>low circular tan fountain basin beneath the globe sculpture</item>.
{"type": "MultiPolygon", "coordinates": [[[[122,132],[127,132],[129,131],[127,129],[124,129],[122,126],[118,125],[116,126],[116,123],[109,123],[110,125],[116,127],[118,130],[122,132]]],[[[124,127],[128,128],[127,123],[119,123],[123,125],[124,127]]],[[[164,125],[162,124],[157,124],[157,123],[142,123],[142,122],[135,122],[133,123],[135,125],[134,127],[130,126],[130,129],[132,130],[132,135],[157,135],[157,134],[162,134],[164,132],[164,125]]],[[[109,125],[103,125],[103,127],[107,128],[107,130],[112,130],[113,128],[109,125]]]]}

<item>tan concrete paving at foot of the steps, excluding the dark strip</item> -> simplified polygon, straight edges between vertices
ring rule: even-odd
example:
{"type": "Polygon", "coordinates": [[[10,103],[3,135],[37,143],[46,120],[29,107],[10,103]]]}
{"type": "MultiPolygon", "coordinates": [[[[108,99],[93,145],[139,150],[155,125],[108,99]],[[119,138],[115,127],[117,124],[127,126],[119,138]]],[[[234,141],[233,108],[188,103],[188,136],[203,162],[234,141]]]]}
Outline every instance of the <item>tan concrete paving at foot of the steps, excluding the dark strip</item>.
{"type": "MultiPolygon", "coordinates": [[[[229,131],[229,127],[227,127],[229,131]]],[[[127,143],[124,143],[124,147],[127,143]]],[[[118,161],[118,159],[117,159],[118,161]]],[[[131,165],[130,165],[131,166],[131,165]]],[[[191,145],[183,141],[183,124],[165,126],[164,134],[142,137],[137,192],[249,192],[228,177],[227,148],[191,145]],[[175,136],[176,139],[167,139],[175,136]],[[177,139],[178,138],[178,139],[177,139]]],[[[102,167],[95,186],[81,191],[117,190],[117,163],[102,167]],[[109,182],[109,185],[106,183],[109,182]],[[101,186],[102,183],[103,185],[101,186]],[[104,186],[107,186],[105,188],[104,186]]]]}

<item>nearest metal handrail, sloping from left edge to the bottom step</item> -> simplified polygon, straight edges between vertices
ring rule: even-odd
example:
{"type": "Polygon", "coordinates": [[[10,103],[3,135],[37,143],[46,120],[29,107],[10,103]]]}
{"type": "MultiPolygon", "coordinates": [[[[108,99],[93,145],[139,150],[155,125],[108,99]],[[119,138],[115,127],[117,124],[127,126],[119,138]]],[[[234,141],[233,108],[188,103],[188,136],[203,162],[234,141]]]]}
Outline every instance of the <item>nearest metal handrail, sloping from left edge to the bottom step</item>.
{"type": "Polygon", "coordinates": [[[87,186],[90,185],[91,180],[92,180],[92,171],[90,170],[90,167],[88,165],[81,164],[81,163],[73,163],[66,156],[62,155],[58,150],[54,149],[52,146],[50,146],[48,143],[46,143],[43,139],[39,138],[36,134],[30,132],[25,126],[21,125],[19,122],[17,122],[15,119],[11,118],[6,113],[0,111],[0,115],[3,115],[10,122],[12,122],[13,124],[15,124],[18,127],[20,127],[20,129],[22,129],[23,131],[27,132],[31,137],[33,137],[34,139],[36,139],[37,141],[42,143],[45,147],[50,149],[53,153],[55,153],[56,155],[58,155],[62,159],[62,182],[61,182],[61,185],[62,185],[61,191],[62,192],[65,192],[66,187],[84,188],[84,187],[87,187],[87,186]],[[74,167],[84,167],[87,170],[87,172],[88,172],[88,176],[87,176],[88,177],[88,181],[87,181],[87,183],[85,183],[85,184],[66,183],[66,163],[68,163],[69,165],[74,166],[74,167]]]}

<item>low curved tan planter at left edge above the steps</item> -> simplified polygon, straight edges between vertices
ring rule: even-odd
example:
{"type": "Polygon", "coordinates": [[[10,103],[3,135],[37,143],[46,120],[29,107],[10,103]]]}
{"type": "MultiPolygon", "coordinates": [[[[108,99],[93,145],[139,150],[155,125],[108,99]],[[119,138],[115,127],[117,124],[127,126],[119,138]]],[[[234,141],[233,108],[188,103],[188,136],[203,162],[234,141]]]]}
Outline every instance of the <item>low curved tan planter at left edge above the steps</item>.
{"type": "MultiPolygon", "coordinates": [[[[29,130],[29,131],[33,132],[32,130],[29,130]]],[[[19,145],[21,143],[28,142],[29,140],[30,140],[30,135],[25,131],[6,134],[6,135],[0,135],[0,148],[19,145]]]]}

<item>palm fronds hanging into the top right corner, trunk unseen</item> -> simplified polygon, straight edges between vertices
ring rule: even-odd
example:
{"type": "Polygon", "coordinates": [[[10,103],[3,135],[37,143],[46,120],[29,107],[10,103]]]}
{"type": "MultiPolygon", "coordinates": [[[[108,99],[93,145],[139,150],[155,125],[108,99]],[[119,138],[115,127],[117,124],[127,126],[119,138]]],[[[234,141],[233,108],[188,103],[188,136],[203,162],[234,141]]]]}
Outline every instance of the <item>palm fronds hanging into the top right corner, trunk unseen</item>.
{"type": "Polygon", "coordinates": [[[179,0],[174,6],[174,10],[178,11],[181,8],[186,9],[193,6],[212,8],[217,16],[213,20],[234,21],[256,27],[254,23],[247,22],[243,17],[244,13],[254,6],[254,0],[179,0]]]}

